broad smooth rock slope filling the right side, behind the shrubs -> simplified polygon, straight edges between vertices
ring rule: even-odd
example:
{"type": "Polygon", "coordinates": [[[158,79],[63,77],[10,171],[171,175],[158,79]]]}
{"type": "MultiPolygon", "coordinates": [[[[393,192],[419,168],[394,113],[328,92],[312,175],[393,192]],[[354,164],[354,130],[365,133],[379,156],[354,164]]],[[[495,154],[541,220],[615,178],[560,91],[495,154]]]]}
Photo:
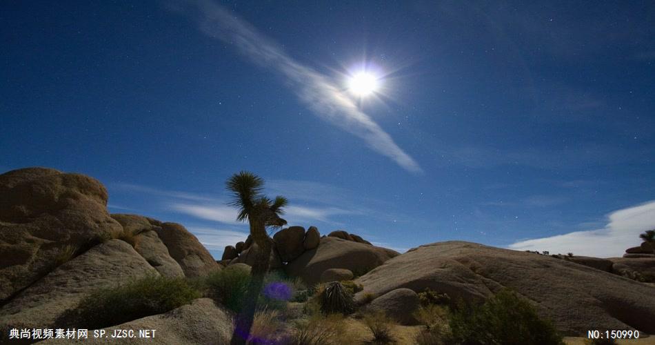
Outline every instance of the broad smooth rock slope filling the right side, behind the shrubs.
{"type": "Polygon", "coordinates": [[[358,294],[383,295],[397,288],[430,288],[451,297],[481,301],[511,288],[554,320],[568,335],[603,325],[655,333],[655,288],[554,257],[473,244],[420,246],[388,260],[356,282],[358,294]]]}

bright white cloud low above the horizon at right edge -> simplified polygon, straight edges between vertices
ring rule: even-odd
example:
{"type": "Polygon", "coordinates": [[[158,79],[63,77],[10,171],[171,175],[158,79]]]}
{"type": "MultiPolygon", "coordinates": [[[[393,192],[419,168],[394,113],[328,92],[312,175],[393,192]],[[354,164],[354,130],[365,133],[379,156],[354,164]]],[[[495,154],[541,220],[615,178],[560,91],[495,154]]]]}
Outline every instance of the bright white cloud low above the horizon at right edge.
{"type": "Polygon", "coordinates": [[[639,234],[655,228],[655,201],[610,213],[605,228],[576,231],[510,244],[516,250],[548,250],[594,257],[621,257],[625,249],[638,246],[639,234]]]}

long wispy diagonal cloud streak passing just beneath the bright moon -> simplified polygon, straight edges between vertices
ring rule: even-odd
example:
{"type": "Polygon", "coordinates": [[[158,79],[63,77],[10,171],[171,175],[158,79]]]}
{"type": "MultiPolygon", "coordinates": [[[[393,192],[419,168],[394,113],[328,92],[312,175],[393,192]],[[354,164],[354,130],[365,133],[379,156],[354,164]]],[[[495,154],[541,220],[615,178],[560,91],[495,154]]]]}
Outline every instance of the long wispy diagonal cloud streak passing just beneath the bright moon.
{"type": "Polygon", "coordinates": [[[389,157],[405,170],[423,171],[387,132],[356,106],[353,99],[343,95],[330,78],[292,59],[250,23],[210,0],[175,2],[170,8],[190,14],[209,37],[232,44],[252,62],[279,72],[296,96],[321,119],[363,139],[372,150],[389,157]]]}

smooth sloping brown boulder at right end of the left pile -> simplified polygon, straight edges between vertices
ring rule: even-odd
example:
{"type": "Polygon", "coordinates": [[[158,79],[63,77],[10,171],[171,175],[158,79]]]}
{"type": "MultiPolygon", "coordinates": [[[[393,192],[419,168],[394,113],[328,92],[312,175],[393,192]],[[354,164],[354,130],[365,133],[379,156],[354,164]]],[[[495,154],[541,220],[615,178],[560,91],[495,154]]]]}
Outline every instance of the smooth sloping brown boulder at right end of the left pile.
{"type": "Polygon", "coordinates": [[[157,235],[168,248],[168,253],[180,264],[184,275],[199,277],[207,275],[221,266],[207,249],[183,226],[176,223],[162,223],[157,235]]]}

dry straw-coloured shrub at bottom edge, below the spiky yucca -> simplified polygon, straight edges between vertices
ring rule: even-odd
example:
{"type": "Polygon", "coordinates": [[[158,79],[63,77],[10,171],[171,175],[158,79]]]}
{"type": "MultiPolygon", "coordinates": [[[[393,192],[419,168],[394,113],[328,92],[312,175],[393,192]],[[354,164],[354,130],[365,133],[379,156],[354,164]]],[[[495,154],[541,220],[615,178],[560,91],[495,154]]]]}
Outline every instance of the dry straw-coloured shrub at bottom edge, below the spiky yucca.
{"type": "Polygon", "coordinates": [[[321,315],[316,313],[308,319],[295,322],[290,345],[344,344],[345,320],[341,314],[321,315]]]}

